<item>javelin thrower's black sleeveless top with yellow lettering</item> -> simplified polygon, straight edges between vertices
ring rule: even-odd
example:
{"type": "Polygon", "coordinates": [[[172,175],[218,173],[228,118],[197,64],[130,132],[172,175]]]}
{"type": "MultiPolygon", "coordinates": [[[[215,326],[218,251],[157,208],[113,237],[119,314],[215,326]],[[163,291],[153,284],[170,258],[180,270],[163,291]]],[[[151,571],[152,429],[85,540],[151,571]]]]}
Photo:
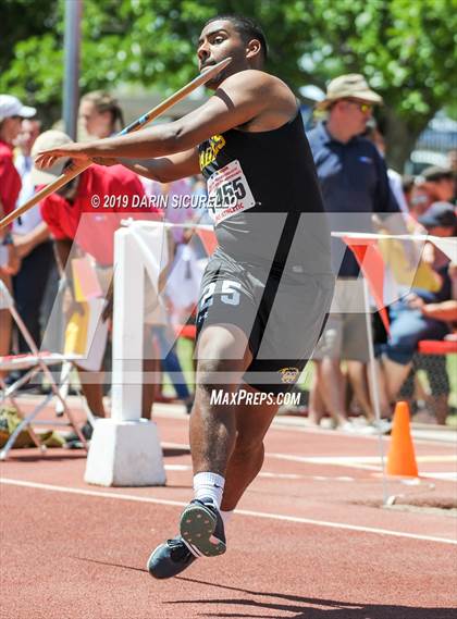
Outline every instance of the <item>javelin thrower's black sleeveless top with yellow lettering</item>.
{"type": "Polygon", "coordinates": [[[330,273],[330,233],[301,114],[277,129],[230,129],[199,145],[221,250],[237,262],[330,273]]]}

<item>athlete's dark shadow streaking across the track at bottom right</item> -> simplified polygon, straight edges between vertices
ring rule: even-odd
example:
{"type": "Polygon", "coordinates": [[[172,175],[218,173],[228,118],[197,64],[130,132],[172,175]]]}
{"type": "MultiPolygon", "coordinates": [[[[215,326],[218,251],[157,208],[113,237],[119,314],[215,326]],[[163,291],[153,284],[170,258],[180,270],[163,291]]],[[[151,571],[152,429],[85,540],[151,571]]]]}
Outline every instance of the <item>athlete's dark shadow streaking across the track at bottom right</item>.
{"type": "Polygon", "coordinates": [[[271,619],[273,617],[270,612],[268,615],[259,614],[262,608],[265,610],[276,610],[281,612],[280,617],[289,617],[291,619],[455,619],[455,608],[423,608],[413,606],[387,605],[387,604],[357,604],[356,602],[338,602],[335,599],[321,599],[317,597],[302,597],[292,594],[283,593],[265,593],[260,591],[248,591],[235,586],[226,586],[195,580],[189,578],[176,577],[176,580],[194,582],[210,586],[217,586],[228,591],[236,591],[245,593],[252,598],[238,598],[238,599],[180,599],[174,602],[166,602],[164,604],[214,604],[214,605],[237,605],[245,606],[247,612],[208,612],[202,611],[200,617],[213,618],[239,618],[239,619],[271,619]],[[272,602],[256,601],[256,597],[271,597],[275,598],[272,602]],[[287,604],[286,604],[287,603],[287,604]],[[316,608],[321,606],[322,608],[316,608]],[[252,614],[249,614],[249,609],[252,614]],[[255,614],[254,614],[255,612],[255,614]],[[296,615],[291,615],[296,612],[296,615]],[[284,614],[284,615],[283,615],[284,614]]]}

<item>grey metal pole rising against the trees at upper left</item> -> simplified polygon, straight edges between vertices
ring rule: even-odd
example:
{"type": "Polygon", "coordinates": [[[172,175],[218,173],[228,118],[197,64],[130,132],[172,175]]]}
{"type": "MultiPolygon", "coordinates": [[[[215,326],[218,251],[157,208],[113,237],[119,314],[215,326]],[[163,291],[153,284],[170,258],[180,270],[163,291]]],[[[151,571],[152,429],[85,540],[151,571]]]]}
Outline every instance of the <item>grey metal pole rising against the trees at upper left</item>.
{"type": "Polygon", "coordinates": [[[82,0],[65,0],[65,50],[63,79],[63,121],[65,133],[76,139],[77,108],[79,100],[79,48],[82,0]]]}

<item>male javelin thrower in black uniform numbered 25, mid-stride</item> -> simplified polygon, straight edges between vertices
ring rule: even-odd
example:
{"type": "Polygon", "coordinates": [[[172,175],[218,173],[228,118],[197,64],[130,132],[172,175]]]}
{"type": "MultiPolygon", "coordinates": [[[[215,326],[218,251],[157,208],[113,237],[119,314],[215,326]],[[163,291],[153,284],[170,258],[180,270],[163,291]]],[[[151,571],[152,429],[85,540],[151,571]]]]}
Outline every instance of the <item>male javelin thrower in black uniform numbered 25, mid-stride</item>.
{"type": "MultiPolygon", "coordinates": [[[[158,579],[225,552],[232,511],[263,462],[263,437],[310,358],[333,294],[330,237],[314,165],[292,90],[262,71],[267,42],[251,20],[210,20],[203,70],[231,57],[214,95],[183,119],[124,137],[41,153],[119,159],[162,183],[202,173],[219,247],[197,312],[190,416],[195,498],[180,535],[148,561],[158,579]]],[[[114,160],[114,161],[113,161],[114,160]]]]}

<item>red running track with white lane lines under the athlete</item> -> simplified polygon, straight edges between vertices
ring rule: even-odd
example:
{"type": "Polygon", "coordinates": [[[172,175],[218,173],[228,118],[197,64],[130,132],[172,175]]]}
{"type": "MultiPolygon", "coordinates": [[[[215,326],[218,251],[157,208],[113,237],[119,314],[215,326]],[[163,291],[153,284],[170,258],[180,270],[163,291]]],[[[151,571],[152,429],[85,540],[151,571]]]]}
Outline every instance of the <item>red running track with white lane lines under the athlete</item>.
{"type": "MultiPolygon", "coordinates": [[[[302,426],[271,429],[227,553],[155,581],[146,560],[192,494],[187,419],[157,421],[166,487],[88,486],[74,451],[15,450],[2,463],[2,619],[455,618],[455,518],[380,508],[376,440],[302,426]]],[[[453,445],[416,449],[421,473],[455,470],[453,445]]],[[[432,479],[388,492],[455,498],[453,483],[432,479]]]]}

